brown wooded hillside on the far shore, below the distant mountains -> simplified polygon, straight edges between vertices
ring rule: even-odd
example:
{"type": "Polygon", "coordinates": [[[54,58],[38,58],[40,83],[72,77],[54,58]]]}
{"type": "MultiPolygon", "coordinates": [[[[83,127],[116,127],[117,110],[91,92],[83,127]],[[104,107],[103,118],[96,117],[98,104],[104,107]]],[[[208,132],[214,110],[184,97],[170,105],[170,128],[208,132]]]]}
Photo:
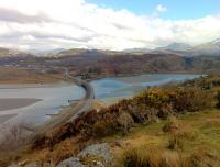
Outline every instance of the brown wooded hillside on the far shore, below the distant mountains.
{"type": "Polygon", "coordinates": [[[87,54],[66,54],[58,57],[16,56],[0,57],[0,66],[59,70],[68,68],[75,76],[92,79],[144,73],[200,73],[220,70],[219,56],[182,57],[176,54],[119,54],[109,55],[95,51],[87,54]]]}

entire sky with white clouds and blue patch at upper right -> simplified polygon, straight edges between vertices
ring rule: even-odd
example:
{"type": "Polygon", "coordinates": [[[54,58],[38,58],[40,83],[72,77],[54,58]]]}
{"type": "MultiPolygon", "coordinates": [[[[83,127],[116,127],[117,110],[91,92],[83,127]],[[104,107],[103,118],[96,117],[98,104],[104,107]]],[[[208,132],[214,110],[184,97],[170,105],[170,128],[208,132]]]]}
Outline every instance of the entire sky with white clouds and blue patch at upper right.
{"type": "Polygon", "coordinates": [[[220,0],[0,0],[0,46],[155,48],[220,37],[220,0]]]}

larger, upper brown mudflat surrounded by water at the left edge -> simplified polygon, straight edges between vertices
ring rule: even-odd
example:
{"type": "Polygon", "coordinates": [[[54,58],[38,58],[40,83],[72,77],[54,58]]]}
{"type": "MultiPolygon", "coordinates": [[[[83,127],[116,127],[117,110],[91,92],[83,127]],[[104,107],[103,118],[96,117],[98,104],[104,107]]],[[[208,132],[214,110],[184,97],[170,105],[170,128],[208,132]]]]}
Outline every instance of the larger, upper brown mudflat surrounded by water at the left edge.
{"type": "Polygon", "coordinates": [[[31,104],[38,102],[38,101],[42,101],[42,99],[25,99],[25,98],[0,99],[0,111],[29,107],[31,104]]]}

